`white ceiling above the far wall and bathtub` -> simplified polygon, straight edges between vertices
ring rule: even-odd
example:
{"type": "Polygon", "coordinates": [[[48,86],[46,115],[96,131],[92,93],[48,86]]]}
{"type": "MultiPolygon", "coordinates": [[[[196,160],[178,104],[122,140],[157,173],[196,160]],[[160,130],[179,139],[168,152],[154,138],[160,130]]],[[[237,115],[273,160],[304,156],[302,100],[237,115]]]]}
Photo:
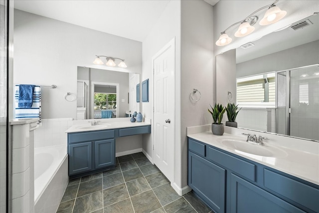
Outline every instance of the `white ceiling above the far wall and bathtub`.
{"type": "MultiPolygon", "coordinates": [[[[214,5],[218,0],[205,0],[214,5]]],[[[14,8],[143,41],[169,0],[14,0],[14,8]]]]}

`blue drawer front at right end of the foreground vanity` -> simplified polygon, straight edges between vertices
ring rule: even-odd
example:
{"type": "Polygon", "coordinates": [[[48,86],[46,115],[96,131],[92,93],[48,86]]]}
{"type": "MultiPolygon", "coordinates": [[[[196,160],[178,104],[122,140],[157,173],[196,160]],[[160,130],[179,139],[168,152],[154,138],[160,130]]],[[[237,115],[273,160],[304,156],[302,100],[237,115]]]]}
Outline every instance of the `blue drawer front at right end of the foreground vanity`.
{"type": "Polygon", "coordinates": [[[264,169],[264,186],[298,204],[319,212],[319,189],[264,169]]]}

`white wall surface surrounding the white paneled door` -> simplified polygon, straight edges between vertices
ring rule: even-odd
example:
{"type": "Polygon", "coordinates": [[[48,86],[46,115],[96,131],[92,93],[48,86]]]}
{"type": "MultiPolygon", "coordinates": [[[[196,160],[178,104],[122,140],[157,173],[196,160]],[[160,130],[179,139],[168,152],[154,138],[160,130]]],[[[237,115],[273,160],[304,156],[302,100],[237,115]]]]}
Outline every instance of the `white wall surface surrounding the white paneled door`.
{"type": "MultiPolygon", "coordinates": [[[[154,23],[154,27],[148,36],[143,41],[143,66],[142,66],[142,81],[150,79],[149,81],[149,100],[148,103],[143,103],[143,116],[153,118],[153,67],[152,57],[160,51],[160,49],[175,37],[175,97],[176,108],[180,107],[180,0],[169,1],[165,10],[161,14],[157,23],[154,23]]],[[[178,114],[175,116],[176,129],[180,128],[180,120],[178,114]]],[[[149,156],[153,156],[153,126],[152,133],[143,135],[143,149],[149,156]]],[[[176,130],[176,133],[178,131],[176,130]]],[[[175,141],[180,141],[175,140],[175,141]]],[[[179,166],[180,167],[180,166],[179,166]]],[[[179,172],[180,173],[180,172],[179,172]]],[[[180,175],[179,175],[180,176],[180,175]]]]}

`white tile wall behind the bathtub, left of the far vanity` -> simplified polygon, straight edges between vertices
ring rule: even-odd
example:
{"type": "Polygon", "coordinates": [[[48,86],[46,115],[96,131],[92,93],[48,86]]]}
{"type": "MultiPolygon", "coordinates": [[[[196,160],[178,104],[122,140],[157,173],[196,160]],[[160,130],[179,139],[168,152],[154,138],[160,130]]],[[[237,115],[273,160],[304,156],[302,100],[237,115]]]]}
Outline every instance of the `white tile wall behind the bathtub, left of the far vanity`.
{"type": "Polygon", "coordinates": [[[67,143],[65,131],[73,125],[73,118],[42,119],[41,122],[34,130],[34,148],[67,143]]]}

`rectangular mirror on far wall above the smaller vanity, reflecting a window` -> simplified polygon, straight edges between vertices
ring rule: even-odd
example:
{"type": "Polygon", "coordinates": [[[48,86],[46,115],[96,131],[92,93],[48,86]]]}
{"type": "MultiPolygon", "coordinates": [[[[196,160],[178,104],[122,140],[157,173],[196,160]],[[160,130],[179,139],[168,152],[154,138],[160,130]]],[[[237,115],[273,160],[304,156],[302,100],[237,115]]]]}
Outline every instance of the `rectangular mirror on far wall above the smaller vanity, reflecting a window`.
{"type": "Polygon", "coordinates": [[[128,117],[140,111],[140,74],[88,67],[77,69],[77,119],[128,117]]]}

